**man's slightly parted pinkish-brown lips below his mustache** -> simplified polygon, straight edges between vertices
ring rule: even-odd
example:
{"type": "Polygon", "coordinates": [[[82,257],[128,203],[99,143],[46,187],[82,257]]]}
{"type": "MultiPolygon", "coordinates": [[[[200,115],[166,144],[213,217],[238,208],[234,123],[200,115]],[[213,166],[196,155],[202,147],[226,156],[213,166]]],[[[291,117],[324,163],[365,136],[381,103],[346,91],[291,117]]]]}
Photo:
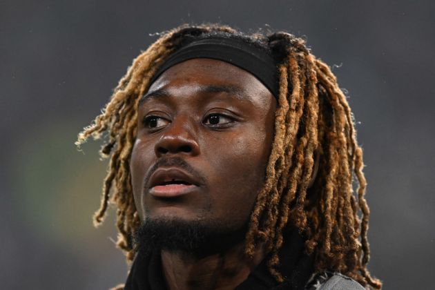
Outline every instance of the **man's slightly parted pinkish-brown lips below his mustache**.
{"type": "Polygon", "coordinates": [[[155,197],[178,197],[191,193],[200,182],[181,168],[158,168],[149,180],[149,193],[155,197]]]}

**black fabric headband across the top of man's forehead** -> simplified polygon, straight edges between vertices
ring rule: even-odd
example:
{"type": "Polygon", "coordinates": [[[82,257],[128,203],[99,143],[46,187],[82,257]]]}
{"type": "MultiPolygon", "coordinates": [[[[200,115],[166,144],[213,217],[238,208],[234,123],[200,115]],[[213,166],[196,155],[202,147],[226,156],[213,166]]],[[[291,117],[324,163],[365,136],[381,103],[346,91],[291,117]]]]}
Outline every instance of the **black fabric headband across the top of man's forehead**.
{"type": "Polygon", "coordinates": [[[151,79],[151,83],[171,66],[189,59],[200,58],[218,59],[251,72],[278,99],[278,68],[276,61],[264,50],[242,39],[200,39],[182,46],[160,66],[151,79]]]}

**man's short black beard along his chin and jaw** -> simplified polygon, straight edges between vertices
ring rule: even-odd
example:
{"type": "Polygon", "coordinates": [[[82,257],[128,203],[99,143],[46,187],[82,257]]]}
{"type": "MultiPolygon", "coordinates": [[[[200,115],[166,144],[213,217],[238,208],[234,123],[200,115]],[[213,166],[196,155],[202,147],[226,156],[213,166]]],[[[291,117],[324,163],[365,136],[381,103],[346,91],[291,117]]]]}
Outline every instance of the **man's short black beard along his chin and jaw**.
{"type": "Polygon", "coordinates": [[[244,240],[248,222],[238,229],[218,222],[186,221],[179,219],[146,219],[133,237],[137,253],[153,251],[180,252],[201,258],[224,253],[244,240]]]}

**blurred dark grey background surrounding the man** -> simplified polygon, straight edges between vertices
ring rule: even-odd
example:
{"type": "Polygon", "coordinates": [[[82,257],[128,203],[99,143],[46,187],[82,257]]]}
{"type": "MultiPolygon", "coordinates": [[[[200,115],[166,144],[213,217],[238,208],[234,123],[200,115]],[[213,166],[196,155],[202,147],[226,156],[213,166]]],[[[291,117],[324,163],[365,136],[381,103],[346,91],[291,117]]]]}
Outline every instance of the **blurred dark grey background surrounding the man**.
{"type": "Polygon", "coordinates": [[[334,66],[365,151],[371,273],[433,289],[434,1],[0,1],[1,289],[126,278],[115,218],[93,228],[106,161],[77,133],[153,33],[218,22],[287,30],[334,66]]]}

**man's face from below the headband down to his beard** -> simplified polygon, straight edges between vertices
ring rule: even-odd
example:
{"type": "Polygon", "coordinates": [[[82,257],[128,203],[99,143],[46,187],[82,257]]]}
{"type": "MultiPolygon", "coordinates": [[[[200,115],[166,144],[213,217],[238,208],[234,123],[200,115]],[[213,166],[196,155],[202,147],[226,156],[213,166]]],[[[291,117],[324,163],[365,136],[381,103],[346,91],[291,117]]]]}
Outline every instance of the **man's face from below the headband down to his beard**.
{"type": "Polygon", "coordinates": [[[138,107],[131,175],[142,220],[241,229],[264,184],[276,99],[249,72],[191,59],[138,107]]]}

